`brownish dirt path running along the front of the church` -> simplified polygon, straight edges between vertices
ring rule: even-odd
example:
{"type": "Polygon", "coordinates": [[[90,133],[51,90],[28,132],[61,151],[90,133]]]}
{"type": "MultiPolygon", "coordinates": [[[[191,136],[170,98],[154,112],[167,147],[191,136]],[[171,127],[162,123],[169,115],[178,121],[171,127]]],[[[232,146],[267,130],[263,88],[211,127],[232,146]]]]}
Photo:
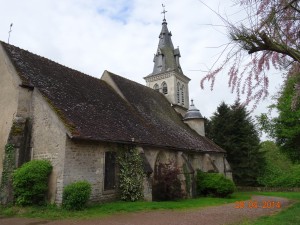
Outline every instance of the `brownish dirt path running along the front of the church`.
{"type": "Polygon", "coordinates": [[[291,204],[288,199],[253,196],[251,201],[186,211],[150,211],[114,215],[101,219],[48,221],[43,219],[2,218],[1,225],[223,225],[239,223],[246,218],[254,219],[274,214],[291,204]],[[273,203],[280,203],[279,205],[273,203]],[[270,208],[263,208],[263,205],[270,208]],[[268,203],[268,204],[267,204],[268,203]],[[256,205],[257,204],[257,205],[256,205]],[[250,206],[250,207],[249,207],[250,206]],[[251,208],[252,207],[252,208],[251,208]]]}

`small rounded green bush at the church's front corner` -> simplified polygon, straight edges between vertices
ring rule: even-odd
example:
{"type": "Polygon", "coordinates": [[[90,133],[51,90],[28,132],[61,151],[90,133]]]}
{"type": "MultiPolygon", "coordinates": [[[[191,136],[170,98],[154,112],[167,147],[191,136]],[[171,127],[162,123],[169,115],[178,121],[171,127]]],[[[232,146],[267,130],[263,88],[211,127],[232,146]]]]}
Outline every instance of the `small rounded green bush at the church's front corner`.
{"type": "Polygon", "coordinates": [[[77,181],[67,185],[63,191],[62,207],[68,210],[84,209],[91,192],[91,184],[87,181],[77,181]]]}

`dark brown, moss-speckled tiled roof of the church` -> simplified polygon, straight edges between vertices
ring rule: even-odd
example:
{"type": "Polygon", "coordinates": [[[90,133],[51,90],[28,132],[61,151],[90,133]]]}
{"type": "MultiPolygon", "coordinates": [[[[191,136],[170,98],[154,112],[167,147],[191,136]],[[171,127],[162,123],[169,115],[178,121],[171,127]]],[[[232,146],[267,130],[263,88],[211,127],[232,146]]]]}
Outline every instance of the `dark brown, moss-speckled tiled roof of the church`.
{"type": "Polygon", "coordinates": [[[184,124],[167,99],[155,90],[109,73],[126,101],[101,79],[0,43],[22,85],[41,92],[73,139],[224,152],[184,124]]]}

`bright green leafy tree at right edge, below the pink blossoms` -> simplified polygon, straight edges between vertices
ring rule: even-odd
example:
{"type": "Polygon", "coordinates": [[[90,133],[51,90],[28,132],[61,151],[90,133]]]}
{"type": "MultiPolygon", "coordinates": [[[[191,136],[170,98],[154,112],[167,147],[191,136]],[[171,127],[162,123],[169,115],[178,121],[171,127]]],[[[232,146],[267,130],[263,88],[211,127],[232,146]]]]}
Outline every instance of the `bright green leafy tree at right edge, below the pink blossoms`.
{"type": "Polygon", "coordinates": [[[300,83],[300,71],[293,68],[276,104],[271,106],[277,109],[278,116],[270,119],[267,114],[262,114],[258,117],[261,129],[276,140],[280,150],[294,163],[300,162],[300,96],[295,90],[297,83],[300,83]]]}

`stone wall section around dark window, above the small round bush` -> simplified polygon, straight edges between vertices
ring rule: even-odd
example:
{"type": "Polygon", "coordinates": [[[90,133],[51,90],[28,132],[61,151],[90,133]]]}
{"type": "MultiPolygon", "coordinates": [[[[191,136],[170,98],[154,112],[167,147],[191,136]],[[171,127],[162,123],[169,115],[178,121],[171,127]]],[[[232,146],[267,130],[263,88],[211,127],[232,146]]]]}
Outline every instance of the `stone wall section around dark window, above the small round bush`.
{"type": "Polygon", "coordinates": [[[114,144],[67,140],[64,186],[80,180],[92,185],[92,202],[115,199],[115,191],[104,191],[104,157],[106,151],[117,151],[114,144]]]}

